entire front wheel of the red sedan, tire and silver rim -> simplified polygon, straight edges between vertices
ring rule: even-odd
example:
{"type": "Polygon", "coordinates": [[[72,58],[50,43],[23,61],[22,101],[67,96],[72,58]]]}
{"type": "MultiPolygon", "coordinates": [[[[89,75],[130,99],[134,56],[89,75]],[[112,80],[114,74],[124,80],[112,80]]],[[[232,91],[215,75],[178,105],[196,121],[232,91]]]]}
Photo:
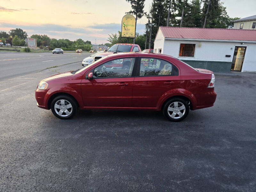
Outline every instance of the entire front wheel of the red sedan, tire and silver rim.
{"type": "Polygon", "coordinates": [[[77,104],[72,97],[60,95],[52,100],[51,110],[60,119],[70,119],[76,115],[77,104]]]}

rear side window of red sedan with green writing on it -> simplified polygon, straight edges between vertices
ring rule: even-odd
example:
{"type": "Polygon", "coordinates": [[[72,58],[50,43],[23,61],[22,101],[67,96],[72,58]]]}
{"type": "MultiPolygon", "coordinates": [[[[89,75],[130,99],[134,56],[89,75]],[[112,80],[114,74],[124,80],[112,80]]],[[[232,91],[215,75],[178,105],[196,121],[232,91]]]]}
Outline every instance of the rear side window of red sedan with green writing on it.
{"type": "Polygon", "coordinates": [[[140,58],[140,76],[178,75],[178,69],[171,63],[156,58],[140,58]]]}

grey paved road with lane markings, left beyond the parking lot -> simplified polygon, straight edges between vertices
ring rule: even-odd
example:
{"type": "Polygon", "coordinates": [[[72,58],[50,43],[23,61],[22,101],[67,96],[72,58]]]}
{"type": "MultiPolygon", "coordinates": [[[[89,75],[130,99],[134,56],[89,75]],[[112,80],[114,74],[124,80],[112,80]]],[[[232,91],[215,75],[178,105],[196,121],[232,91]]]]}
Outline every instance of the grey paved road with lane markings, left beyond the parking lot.
{"type": "Polygon", "coordinates": [[[0,80],[36,72],[52,66],[82,61],[89,55],[91,55],[91,53],[80,54],[64,52],[64,54],[52,54],[0,52],[0,80]]]}

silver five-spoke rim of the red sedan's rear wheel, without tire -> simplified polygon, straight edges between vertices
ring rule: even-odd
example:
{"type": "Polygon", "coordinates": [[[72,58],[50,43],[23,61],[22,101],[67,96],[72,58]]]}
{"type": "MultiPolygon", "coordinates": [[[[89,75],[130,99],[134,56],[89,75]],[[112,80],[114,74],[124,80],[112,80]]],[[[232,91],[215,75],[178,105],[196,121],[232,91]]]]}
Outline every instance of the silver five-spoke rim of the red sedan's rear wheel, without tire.
{"type": "Polygon", "coordinates": [[[173,119],[179,119],[184,116],[186,107],[183,103],[176,101],[169,105],[167,111],[170,117],[173,119]]]}

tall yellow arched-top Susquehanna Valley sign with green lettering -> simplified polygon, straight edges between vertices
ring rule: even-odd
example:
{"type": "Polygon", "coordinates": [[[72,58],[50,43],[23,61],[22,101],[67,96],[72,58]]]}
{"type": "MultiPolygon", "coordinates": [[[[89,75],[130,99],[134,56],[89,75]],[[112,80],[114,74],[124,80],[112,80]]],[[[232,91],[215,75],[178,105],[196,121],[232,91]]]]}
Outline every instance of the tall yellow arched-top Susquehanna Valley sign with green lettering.
{"type": "Polygon", "coordinates": [[[122,19],[122,35],[121,37],[135,37],[135,17],[131,14],[124,15],[122,19]]]}

